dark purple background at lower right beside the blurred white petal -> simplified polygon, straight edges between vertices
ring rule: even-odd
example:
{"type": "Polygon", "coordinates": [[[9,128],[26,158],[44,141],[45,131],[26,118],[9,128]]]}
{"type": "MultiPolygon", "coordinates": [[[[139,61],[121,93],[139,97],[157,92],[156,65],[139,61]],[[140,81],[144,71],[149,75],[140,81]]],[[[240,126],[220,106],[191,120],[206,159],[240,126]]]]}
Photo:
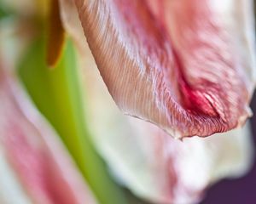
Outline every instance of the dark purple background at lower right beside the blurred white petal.
{"type": "MultiPolygon", "coordinates": [[[[256,148],[256,94],[252,101],[254,116],[251,118],[253,141],[256,148]]],[[[201,204],[254,204],[256,203],[256,156],[253,169],[243,178],[223,180],[212,186],[201,204]]]]}

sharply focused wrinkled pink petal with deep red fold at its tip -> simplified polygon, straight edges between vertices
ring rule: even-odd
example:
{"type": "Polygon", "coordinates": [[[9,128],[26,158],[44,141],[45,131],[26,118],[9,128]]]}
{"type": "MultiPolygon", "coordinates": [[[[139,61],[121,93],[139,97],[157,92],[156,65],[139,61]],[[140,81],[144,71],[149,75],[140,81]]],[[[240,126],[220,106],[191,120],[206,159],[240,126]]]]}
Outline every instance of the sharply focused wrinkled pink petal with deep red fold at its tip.
{"type": "Polygon", "coordinates": [[[126,114],[173,137],[228,131],[250,115],[251,0],[75,0],[102,78],[126,114]]]}

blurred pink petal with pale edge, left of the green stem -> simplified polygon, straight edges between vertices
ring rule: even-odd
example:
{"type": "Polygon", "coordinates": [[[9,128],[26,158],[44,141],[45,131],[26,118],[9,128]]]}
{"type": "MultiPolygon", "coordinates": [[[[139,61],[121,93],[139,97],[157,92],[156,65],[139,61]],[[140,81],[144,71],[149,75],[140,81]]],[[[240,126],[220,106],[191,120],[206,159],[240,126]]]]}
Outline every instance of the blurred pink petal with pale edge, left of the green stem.
{"type": "MultiPolygon", "coordinates": [[[[95,203],[64,146],[3,70],[0,99],[0,150],[5,158],[1,167],[13,169],[13,179],[18,180],[12,181],[10,173],[6,174],[10,190],[17,195],[26,190],[27,198],[23,196],[30,200],[17,198],[19,203],[95,203]]],[[[5,177],[3,173],[1,177],[5,177]]],[[[3,192],[0,200],[14,203],[8,196],[3,192]]]]}

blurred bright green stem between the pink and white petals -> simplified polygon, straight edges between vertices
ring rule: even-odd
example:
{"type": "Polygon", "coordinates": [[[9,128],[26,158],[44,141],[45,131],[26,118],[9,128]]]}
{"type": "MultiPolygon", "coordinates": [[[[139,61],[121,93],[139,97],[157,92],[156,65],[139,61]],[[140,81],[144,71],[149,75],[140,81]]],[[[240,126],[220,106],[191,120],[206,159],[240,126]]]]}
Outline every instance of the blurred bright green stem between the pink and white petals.
{"type": "Polygon", "coordinates": [[[90,141],[72,42],[66,42],[54,69],[46,65],[45,42],[44,37],[39,38],[21,61],[21,81],[38,110],[59,133],[97,200],[103,204],[126,203],[122,190],[113,182],[90,141]]]}

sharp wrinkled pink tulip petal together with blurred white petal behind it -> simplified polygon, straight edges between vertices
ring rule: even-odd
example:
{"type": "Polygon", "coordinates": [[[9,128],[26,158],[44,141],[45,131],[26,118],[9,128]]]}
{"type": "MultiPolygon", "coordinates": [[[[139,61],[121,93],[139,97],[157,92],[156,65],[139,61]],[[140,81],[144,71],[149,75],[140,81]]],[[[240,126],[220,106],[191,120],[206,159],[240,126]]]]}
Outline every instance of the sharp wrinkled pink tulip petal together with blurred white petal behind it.
{"type": "Polygon", "coordinates": [[[249,127],[239,126],[250,115],[254,88],[250,1],[75,2],[108,87],[81,45],[86,43],[72,1],[61,0],[63,24],[82,47],[92,139],[121,184],[155,203],[197,203],[219,179],[247,173],[252,141],[249,127]],[[239,128],[181,142],[148,122],[121,116],[108,91],[126,114],[175,138],[239,128]]]}

